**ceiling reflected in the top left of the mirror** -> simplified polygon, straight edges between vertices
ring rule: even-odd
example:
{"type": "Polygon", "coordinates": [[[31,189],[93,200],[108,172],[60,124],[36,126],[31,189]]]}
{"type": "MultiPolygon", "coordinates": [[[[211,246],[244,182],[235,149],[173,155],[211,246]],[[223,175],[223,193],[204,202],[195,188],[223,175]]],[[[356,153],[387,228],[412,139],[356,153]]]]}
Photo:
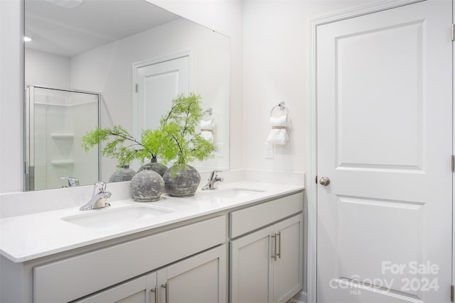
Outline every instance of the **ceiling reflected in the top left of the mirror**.
{"type": "Polygon", "coordinates": [[[73,9],[26,0],[26,48],[73,57],[178,18],[145,0],[83,0],[73,9]]]}

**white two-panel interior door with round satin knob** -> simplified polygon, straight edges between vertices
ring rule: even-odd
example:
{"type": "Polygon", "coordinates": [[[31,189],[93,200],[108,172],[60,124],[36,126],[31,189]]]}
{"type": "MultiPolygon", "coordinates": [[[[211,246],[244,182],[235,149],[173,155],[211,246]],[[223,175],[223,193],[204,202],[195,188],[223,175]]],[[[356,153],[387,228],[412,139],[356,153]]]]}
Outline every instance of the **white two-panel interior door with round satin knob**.
{"type": "Polygon", "coordinates": [[[451,1],[317,29],[317,301],[450,302],[451,1]]]}

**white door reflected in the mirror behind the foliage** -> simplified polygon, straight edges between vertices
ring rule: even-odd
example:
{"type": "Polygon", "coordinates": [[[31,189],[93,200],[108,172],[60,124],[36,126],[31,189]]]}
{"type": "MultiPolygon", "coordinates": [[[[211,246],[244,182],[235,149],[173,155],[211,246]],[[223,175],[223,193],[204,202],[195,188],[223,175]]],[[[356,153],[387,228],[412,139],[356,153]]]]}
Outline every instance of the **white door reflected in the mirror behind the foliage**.
{"type": "Polygon", "coordinates": [[[159,126],[161,116],[171,109],[171,101],[178,94],[190,92],[190,72],[189,55],[137,68],[137,106],[133,120],[137,138],[142,130],[159,126]]]}

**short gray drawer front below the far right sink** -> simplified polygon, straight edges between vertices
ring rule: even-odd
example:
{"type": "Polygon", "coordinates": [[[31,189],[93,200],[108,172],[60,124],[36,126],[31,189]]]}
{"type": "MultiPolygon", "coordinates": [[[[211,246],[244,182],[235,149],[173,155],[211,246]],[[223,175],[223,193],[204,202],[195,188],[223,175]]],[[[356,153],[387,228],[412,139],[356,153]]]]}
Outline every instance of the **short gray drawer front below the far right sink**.
{"type": "Polygon", "coordinates": [[[230,238],[272,224],[304,209],[304,193],[275,199],[230,213],[230,238]]]}

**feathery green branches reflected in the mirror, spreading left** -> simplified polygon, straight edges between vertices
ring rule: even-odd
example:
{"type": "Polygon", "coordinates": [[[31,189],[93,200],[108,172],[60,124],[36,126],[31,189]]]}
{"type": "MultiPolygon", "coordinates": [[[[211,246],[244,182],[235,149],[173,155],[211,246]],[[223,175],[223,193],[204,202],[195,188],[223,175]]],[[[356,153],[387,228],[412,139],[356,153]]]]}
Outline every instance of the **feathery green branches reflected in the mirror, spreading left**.
{"type": "Polygon", "coordinates": [[[142,132],[141,142],[137,141],[122,126],[114,128],[95,128],[82,137],[82,148],[87,152],[101,142],[108,141],[102,149],[102,155],[116,158],[118,166],[129,164],[134,159],[156,158],[159,151],[161,131],[146,130],[142,132]],[[156,139],[157,138],[157,139],[156,139]]]}

